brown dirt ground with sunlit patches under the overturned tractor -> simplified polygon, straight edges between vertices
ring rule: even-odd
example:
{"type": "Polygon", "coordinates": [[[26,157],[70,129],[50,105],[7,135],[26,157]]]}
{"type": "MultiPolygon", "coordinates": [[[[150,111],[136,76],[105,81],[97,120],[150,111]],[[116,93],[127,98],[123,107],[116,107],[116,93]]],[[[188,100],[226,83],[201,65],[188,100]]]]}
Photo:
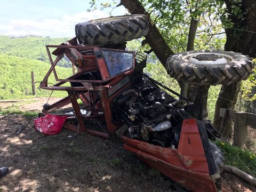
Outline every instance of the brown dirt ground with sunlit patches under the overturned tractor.
{"type": "MultiPolygon", "coordinates": [[[[39,111],[44,100],[15,105],[39,111]]],[[[2,109],[9,105],[14,104],[0,103],[2,109]]],[[[10,169],[0,191],[187,191],[125,151],[121,141],[87,133],[70,141],[73,134],[63,129],[46,136],[34,130],[34,117],[0,116],[0,167],[10,169]]],[[[256,191],[227,172],[221,182],[222,191],[256,191]]]]}

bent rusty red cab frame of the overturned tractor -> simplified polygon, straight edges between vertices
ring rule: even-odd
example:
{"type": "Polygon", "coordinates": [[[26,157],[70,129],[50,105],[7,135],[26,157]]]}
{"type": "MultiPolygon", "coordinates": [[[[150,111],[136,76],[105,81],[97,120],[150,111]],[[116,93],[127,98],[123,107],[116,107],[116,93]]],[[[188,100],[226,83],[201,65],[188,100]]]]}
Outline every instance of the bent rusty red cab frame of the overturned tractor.
{"type": "MultiPolygon", "coordinates": [[[[116,95],[119,94],[120,91],[123,91],[127,86],[129,86],[130,83],[126,84],[121,90],[118,90],[118,92],[112,94],[111,97],[109,97],[107,90],[111,89],[113,85],[115,85],[116,83],[121,81],[123,78],[125,78],[127,75],[133,72],[134,63],[135,63],[135,56],[134,56],[135,53],[130,52],[133,54],[132,68],[130,68],[127,71],[124,71],[124,73],[122,74],[118,74],[113,77],[110,77],[105,61],[103,60],[102,57],[97,56],[98,52],[101,50],[99,47],[87,47],[87,46],[77,46],[77,45],[74,46],[72,44],[74,44],[74,42],[72,43],[71,41],[71,43],[68,42],[67,44],[61,44],[61,45],[46,45],[46,51],[50,58],[51,68],[49,69],[45,78],[41,82],[40,87],[45,90],[66,91],[68,92],[69,97],[64,98],[56,103],[53,103],[50,106],[49,110],[44,111],[44,114],[57,110],[60,107],[63,107],[71,102],[75,111],[74,115],[76,116],[76,119],[78,121],[79,132],[88,131],[93,134],[101,135],[102,137],[109,137],[108,134],[106,133],[101,134],[98,132],[94,132],[93,130],[87,130],[85,128],[84,119],[94,118],[94,117],[101,118],[102,115],[100,115],[99,112],[102,112],[105,119],[107,119],[106,124],[107,124],[107,129],[109,133],[114,133],[117,127],[120,126],[120,125],[114,125],[113,123],[111,123],[111,109],[109,105],[111,100],[113,100],[113,98],[116,97],[116,95]],[[54,61],[50,53],[50,48],[56,48],[52,52],[52,54],[57,56],[57,58],[54,61]],[[55,66],[57,66],[57,63],[61,60],[64,54],[66,54],[66,56],[69,58],[71,62],[73,62],[74,65],[77,65],[78,70],[76,74],[66,79],[59,79],[55,66]],[[90,55],[86,55],[86,54],[90,54],[90,55]],[[74,58],[74,55],[77,58],[74,58]],[[86,64],[84,62],[86,62],[86,64]],[[99,71],[102,78],[101,79],[79,79],[79,77],[81,77],[83,74],[90,71],[99,71]],[[51,73],[54,74],[54,77],[57,83],[54,84],[53,86],[48,86],[47,79],[49,78],[51,73]],[[66,82],[81,83],[81,86],[72,86],[72,85],[61,86],[66,82]],[[93,86],[93,84],[98,84],[98,86],[97,85],[93,86]],[[100,95],[99,96],[100,101],[98,101],[95,104],[95,109],[92,108],[92,103],[90,101],[90,97],[88,94],[90,91],[97,91],[98,94],[100,95]],[[84,117],[81,114],[81,111],[77,103],[78,98],[80,98],[83,101],[86,107],[90,108],[90,111],[92,111],[91,117],[84,117]]],[[[106,48],[103,50],[113,51],[113,49],[106,49],[106,48]]],[[[114,50],[114,51],[117,51],[117,50],[114,50]]],[[[122,52],[124,51],[122,50],[122,52]]],[[[71,118],[74,118],[74,117],[69,117],[68,119],[71,119],[71,118]]],[[[77,131],[78,126],[75,129],[74,125],[69,125],[69,124],[64,125],[64,127],[67,127],[67,129],[70,129],[73,131],[77,131]]]]}

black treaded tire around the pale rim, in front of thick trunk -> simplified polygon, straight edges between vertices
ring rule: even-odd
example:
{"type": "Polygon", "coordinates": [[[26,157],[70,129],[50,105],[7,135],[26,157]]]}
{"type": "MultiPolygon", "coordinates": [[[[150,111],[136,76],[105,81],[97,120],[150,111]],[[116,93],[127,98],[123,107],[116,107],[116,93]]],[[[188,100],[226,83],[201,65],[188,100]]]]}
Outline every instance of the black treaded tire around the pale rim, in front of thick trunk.
{"type": "Polygon", "coordinates": [[[187,51],[171,55],[167,59],[166,69],[171,77],[177,81],[185,81],[197,85],[229,85],[237,83],[249,77],[253,63],[251,58],[241,53],[231,51],[187,51]],[[222,64],[194,64],[186,61],[190,55],[199,53],[215,53],[228,58],[229,62],[222,64]]]}

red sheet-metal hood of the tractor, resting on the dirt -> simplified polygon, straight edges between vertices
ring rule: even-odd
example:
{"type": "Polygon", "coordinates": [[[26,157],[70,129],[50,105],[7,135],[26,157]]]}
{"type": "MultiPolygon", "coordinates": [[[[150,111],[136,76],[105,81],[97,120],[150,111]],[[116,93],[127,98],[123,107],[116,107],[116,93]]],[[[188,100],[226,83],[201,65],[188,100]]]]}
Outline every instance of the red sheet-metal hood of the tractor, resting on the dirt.
{"type": "Polygon", "coordinates": [[[184,119],[178,150],[121,136],[124,148],[193,191],[216,191],[195,119],[184,119]]]}

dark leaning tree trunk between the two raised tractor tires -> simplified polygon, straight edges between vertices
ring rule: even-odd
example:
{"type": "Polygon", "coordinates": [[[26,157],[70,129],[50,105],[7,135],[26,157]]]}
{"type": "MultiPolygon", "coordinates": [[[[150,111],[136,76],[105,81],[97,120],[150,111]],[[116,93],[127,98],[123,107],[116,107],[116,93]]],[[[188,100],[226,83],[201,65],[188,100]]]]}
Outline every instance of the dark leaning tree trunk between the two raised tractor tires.
{"type": "Polygon", "coordinates": [[[165,42],[163,36],[159,33],[155,23],[150,19],[149,13],[138,0],[121,0],[119,5],[123,5],[132,14],[145,14],[149,20],[148,35],[145,36],[146,42],[156,54],[156,57],[166,68],[167,58],[174,54],[169,45],[165,42]]]}

